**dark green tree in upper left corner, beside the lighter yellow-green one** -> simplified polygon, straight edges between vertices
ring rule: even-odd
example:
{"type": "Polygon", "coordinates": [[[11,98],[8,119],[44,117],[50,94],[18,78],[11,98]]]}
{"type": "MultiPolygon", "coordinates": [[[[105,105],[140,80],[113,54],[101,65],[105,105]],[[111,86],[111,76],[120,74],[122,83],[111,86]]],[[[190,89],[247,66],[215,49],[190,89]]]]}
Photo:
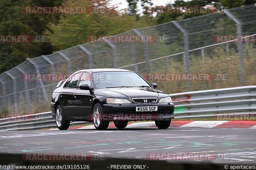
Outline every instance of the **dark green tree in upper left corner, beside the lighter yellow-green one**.
{"type": "MultiPolygon", "coordinates": [[[[58,15],[25,14],[23,7],[59,6],[62,0],[8,0],[0,1],[1,35],[43,35],[49,30],[49,23],[57,23],[58,15]]],[[[20,64],[27,57],[37,57],[52,53],[49,42],[1,43],[0,73],[20,64]]]]}

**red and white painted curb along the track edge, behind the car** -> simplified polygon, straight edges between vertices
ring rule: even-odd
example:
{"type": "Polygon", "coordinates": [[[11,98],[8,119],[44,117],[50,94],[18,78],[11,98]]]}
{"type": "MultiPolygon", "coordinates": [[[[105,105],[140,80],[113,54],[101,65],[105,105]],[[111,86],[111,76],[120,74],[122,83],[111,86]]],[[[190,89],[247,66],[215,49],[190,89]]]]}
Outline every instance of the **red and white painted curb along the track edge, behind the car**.
{"type": "MultiPolygon", "coordinates": [[[[154,121],[152,122],[138,122],[128,123],[126,128],[143,128],[156,127],[154,121]]],[[[256,121],[172,121],[171,127],[191,127],[191,128],[242,128],[242,129],[256,129],[256,121]]],[[[116,128],[114,124],[109,124],[108,128],[116,128]]],[[[87,126],[73,126],[69,130],[74,129],[95,129],[94,125],[87,126]]],[[[47,129],[47,130],[58,130],[47,129]]]]}

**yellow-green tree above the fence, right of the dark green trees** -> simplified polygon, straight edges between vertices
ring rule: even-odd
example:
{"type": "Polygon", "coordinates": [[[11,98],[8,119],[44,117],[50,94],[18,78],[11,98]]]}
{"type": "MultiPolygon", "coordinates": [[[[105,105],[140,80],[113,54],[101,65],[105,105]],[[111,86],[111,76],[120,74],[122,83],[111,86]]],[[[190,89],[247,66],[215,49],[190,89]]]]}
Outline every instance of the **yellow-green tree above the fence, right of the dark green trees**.
{"type": "Polygon", "coordinates": [[[152,18],[148,16],[143,16],[140,22],[136,22],[135,16],[127,13],[120,15],[115,6],[109,5],[109,1],[91,3],[90,0],[77,0],[76,4],[72,4],[71,1],[68,4],[88,6],[90,9],[101,8],[104,9],[104,13],[62,15],[57,25],[50,24],[53,32],[47,30],[46,34],[57,50],[87,43],[91,40],[91,36],[115,35],[153,24],[152,18]]]}

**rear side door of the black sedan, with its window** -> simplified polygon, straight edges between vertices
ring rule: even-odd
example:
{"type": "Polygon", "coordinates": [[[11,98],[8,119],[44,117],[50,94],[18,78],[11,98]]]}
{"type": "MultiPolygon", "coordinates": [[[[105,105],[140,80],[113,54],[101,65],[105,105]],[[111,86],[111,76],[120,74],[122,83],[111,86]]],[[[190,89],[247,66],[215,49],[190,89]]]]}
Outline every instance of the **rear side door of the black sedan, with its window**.
{"type": "Polygon", "coordinates": [[[74,74],[64,85],[63,92],[60,93],[60,102],[66,116],[74,116],[74,91],[80,76],[81,73],[74,74]]]}

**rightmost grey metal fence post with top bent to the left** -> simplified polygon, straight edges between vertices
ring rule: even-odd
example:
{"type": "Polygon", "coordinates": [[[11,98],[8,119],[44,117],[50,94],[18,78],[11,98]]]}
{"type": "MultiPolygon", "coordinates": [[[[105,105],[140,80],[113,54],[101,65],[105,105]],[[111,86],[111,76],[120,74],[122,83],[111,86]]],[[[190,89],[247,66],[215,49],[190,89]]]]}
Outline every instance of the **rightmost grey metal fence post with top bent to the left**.
{"type": "Polygon", "coordinates": [[[240,74],[240,84],[244,86],[244,54],[243,54],[243,42],[242,42],[242,23],[228,10],[223,10],[225,14],[228,15],[236,23],[236,35],[238,39],[237,50],[239,55],[239,74],[240,74]]]}

